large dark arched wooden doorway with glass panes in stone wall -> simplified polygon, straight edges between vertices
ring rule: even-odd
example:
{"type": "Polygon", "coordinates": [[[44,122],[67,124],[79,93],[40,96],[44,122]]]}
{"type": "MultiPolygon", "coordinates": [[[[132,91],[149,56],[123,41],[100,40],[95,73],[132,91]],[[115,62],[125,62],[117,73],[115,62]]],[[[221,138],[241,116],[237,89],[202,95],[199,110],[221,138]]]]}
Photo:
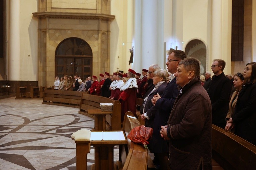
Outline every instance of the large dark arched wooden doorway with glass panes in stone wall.
{"type": "Polygon", "coordinates": [[[92,75],[92,49],[83,39],[72,37],[63,40],[55,52],[55,75],[59,78],[77,74],[85,80],[92,75]]]}

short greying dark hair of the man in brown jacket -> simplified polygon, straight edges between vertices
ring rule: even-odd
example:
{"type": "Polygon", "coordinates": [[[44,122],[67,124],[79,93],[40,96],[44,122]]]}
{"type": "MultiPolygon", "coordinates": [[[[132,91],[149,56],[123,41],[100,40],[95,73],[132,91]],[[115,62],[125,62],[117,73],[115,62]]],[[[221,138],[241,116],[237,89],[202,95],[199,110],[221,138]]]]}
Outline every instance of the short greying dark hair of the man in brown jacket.
{"type": "MultiPolygon", "coordinates": [[[[186,71],[194,71],[195,76],[200,76],[200,61],[193,57],[181,60],[179,65],[183,64],[186,71]]],[[[194,77],[195,77],[194,76],[194,77]]]]}

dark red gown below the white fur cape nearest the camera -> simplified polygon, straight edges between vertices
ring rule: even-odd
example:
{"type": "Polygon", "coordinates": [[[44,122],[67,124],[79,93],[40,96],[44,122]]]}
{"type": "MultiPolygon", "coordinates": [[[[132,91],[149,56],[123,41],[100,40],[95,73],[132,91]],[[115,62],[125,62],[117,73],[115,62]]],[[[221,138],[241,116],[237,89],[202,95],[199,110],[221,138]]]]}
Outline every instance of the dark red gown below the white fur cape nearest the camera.
{"type": "Polygon", "coordinates": [[[128,88],[121,91],[121,121],[124,119],[124,114],[131,111],[133,115],[136,115],[136,96],[137,88],[128,88]]]}

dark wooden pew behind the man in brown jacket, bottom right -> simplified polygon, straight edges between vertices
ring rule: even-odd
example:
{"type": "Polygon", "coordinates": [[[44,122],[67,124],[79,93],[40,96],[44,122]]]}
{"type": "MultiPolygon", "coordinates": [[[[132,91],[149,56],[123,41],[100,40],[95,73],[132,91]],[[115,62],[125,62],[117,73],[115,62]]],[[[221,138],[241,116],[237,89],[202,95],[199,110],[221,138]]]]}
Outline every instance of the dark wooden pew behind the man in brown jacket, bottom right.
{"type": "MultiPolygon", "coordinates": [[[[212,159],[223,169],[255,169],[255,145],[215,125],[212,125],[211,144],[212,159]]],[[[215,167],[214,163],[212,165],[213,169],[218,169],[218,167],[215,167]]]]}

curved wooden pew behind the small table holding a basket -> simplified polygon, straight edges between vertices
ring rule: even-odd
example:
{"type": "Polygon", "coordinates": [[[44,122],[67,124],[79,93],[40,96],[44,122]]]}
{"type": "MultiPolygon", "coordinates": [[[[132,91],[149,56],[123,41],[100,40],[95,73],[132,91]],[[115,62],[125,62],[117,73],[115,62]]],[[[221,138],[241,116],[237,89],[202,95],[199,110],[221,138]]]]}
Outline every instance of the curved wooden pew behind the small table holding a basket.
{"type": "MultiPolygon", "coordinates": [[[[78,113],[94,118],[94,116],[88,114],[88,110],[100,109],[100,103],[113,103],[112,114],[106,115],[105,120],[110,125],[109,130],[121,130],[121,103],[118,100],[111,100],[106,97],[83,93],[78,113]]],[[[102,122],[98,123],[100,124],[102,122]]]]}

